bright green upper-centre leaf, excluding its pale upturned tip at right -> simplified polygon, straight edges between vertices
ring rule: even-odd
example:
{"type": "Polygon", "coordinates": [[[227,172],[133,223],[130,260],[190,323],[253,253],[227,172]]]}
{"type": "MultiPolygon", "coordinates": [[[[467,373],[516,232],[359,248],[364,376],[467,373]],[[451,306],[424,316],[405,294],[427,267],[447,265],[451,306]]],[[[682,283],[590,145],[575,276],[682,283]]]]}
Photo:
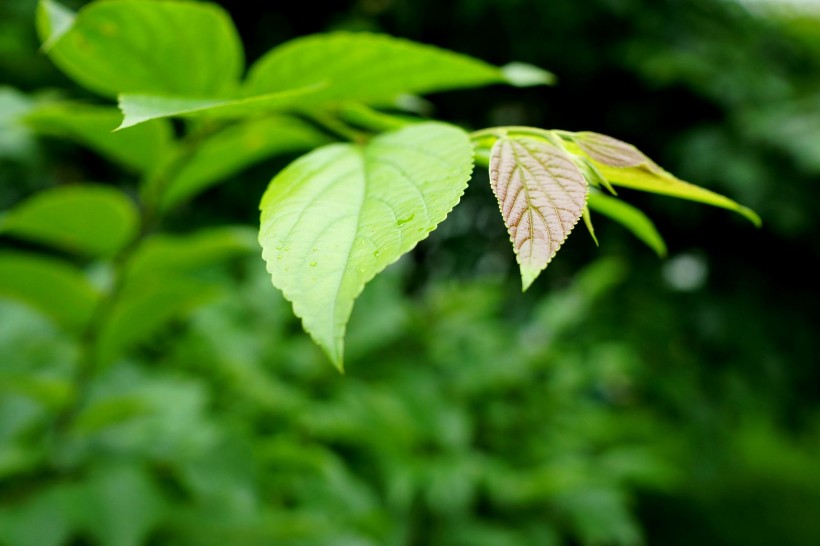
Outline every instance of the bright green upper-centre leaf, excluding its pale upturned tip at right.
{"type": "Polygon", "coordinates": [[[317,34],[291,40],[250,70],[251,95],[323,84],[305,104],[390,103],[401,94],[504,83],[504,71],[466,55],[381,34],[317,34]]]}

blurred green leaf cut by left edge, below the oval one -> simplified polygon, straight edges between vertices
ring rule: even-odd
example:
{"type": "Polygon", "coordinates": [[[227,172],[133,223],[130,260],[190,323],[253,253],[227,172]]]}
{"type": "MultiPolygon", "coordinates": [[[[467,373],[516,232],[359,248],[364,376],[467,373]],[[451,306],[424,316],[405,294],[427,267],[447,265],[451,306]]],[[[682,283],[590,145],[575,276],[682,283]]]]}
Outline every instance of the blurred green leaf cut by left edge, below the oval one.
{"type": "Polygon", "coordinates": [[[0,297],[20,301],[78,333],[91,320],[97,291],[78,269],[60,260],[0,253],[0,297]]]}

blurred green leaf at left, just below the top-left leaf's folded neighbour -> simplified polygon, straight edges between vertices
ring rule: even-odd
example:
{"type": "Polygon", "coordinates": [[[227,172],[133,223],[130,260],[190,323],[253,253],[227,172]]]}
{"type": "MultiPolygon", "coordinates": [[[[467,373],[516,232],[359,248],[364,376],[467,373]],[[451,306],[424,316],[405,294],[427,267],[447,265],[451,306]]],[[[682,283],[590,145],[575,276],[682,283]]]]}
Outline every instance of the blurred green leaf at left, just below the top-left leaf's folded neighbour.
{"type": "Polygon", "coordinates": [[[121,119],[116,108],[57,103],[36,108],[24,121],[38,133],[69,138],[135,171],[156,167],[173,147],[171,125],[157,120],[133,131],[112,132],[121,119]]]}

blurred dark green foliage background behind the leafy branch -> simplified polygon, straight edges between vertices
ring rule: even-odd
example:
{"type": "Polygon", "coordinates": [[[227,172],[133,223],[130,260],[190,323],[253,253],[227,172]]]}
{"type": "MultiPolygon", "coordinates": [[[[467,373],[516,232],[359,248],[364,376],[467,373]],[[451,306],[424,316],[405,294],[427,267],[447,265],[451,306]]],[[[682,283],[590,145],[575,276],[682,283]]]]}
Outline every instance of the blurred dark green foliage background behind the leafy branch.
{"type": "MultiPolygon", "coordinates": [[[[0,300],[0,544],[820,544],[820,8],[221,3],[249,62],[353,29],[547,68],[555,87],[429,107],[467,128],[610,134],[752,207],[763,228],[623,190],[669,258],[601,218],[600,247],[579,228],[521,294],[477,173],[365,290],[345,376],[250,252],[204,267],[209,298],[82,379],[88,400],[68,423],[73,341],[0,300]]],[[[97,100],[38,51],[34,7],[0,3],[0,209],[88,180],[133,193],[127,172],[16,123],[36,97],[97,100]]],[[[252,229],[291,159],[226,180],[163,228],[252,229]]]]}

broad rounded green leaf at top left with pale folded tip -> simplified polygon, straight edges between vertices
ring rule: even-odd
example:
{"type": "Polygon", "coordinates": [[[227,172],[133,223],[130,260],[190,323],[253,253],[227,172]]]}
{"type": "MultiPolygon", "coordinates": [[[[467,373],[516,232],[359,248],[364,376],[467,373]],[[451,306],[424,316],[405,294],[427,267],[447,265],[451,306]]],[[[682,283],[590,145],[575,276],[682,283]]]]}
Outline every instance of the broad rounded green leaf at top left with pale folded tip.
{"type": "Polygon", "coordinates": [[[216,96],[236,88],[243,68],[236,29],[215,4],[110,0],[92,2],[72,18],[41,0],[37,28],[63,72],[109,97],[216,96]]]}

